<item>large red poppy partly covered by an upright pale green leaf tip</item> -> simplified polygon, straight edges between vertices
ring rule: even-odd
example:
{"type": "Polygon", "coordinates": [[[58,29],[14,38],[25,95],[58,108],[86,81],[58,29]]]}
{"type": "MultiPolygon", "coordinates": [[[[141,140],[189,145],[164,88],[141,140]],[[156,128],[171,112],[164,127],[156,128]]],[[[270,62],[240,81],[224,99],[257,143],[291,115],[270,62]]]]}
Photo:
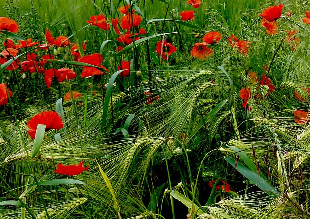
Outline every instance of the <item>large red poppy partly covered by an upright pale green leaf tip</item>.
{"type": "Polygon", "coordinates": [[[36,136],[37,126],[39,124],[46,125],[45,131],[51,129],[62,129],[62,127],[64,126],[64,124],[62,123],[62,119],[57,112],[41,112],[33,116],[27,123],[27,126],[29,128],[28,134],[30,138],[34,138],[36,136]]]}

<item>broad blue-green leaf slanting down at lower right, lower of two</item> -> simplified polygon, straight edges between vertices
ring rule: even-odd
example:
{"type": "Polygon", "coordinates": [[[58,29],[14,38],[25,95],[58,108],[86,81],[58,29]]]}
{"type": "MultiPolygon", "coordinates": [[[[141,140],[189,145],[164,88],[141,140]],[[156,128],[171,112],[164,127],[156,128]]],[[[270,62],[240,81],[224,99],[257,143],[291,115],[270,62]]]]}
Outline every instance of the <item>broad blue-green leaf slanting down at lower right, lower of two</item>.
{"type": "MultiPolygon", "coordinates": [[[[236,160],[231,157],[225,157],[225,160],[235,167],[236,160]]],[[[280,194],[272,185],[269,184],[267,180],[264,180],[260,177],[257,173],[253,172],[252,170],[248,169],[246,166],[238,163],[236,167],[237,171],[240,172],[244,177],[248,178],[250,181],[255,183],[261,190],[266,191],[268,194],[272,196],[276,196],[275,194],[280,194]]],[[[276,196],[277,197],[277,196],[276,196]]]]}

